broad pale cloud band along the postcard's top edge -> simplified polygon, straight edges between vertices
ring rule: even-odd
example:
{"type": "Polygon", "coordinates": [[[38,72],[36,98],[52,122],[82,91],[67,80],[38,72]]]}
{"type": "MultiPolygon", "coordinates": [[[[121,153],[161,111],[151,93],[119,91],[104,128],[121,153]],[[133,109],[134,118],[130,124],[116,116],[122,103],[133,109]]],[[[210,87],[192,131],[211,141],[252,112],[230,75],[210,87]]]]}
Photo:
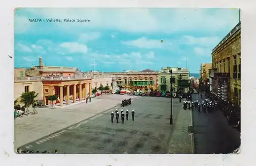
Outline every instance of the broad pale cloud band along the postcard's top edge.
{"type": "MultiPolygon", "coordinates": [[[[222,31],[232,29],[238,23],[238,11],[207,8],[126,8],[126,9],[74,9],[74,8],[30,8],[30,15],[44,18],[81,18],[90,19],[88,23],[58,23],[58,28],[70,31],[72,28],[104,28],[125,32],[162,32],[177,31],[222,31]],[[172,21],[167,21],[172,20],[172,21]],[[227,21],[228,20],[228,21],[227,21]],[[136,25],[136,26],[135,26],[136,25]]],[[[18,18],[17,18],[18,19],[18,18]]],[[[22,18],[20,18],[21,20],[22,18]]],[[[24,19],[24,18],[23,18],[24,19]]],[[[22,21],[20,21],[22,22],[22,21]]],[[[23,21],[28,22],[28,21],[23,21]]],[[[34,24],[36,26],[36,24],[34,24]]],[[[56,23],[57,25],[57,23],[56,23]]],[[[16,27],[16,26],[15,26],[16,27]]],[[[50,31],[50,29],[49,29],[50,31]]]]}

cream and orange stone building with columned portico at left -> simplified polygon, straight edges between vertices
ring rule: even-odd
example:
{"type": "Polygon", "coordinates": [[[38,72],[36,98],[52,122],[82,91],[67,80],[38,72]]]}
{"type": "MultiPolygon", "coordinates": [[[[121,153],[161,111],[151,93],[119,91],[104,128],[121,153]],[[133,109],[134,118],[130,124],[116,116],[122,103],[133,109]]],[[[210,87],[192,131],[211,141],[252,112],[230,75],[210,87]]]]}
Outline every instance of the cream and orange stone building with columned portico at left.
{"type": "Polygon", "coordinates": [[[49,105],[48,96],[58,94],[60,106],[70,102],[85,100],[91,96],[92,88],[110,86],[117,87],[115,76],[86,76],[79,69],[73,67],[44,66],[39,58],[39,66],[14,69],[14,99],[23,92],[35,91],[38,99],[49,105]],[[18,77],[17,77],[18,76],[18,77]]]}

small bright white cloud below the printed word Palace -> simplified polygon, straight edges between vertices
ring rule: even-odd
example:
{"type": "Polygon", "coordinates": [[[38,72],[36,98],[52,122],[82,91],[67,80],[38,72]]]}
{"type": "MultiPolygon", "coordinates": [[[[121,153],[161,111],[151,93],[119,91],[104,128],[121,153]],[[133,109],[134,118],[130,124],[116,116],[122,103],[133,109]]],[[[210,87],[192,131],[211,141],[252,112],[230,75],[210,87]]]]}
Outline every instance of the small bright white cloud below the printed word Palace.
{"type": "Polygon", "coordinates": [[[77,42],[63,42],[59,46],[70,53],[86,54],[88,52],[88,47],[86,45],[77,42]]]}

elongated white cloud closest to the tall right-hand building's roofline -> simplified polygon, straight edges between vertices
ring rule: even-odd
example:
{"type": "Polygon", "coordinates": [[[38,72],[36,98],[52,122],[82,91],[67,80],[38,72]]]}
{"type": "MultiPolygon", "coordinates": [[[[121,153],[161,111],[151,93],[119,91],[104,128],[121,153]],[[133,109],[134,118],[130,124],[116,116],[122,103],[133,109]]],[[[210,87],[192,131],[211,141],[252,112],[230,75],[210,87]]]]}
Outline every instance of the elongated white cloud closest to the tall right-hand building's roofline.
{"type": "Polygon", "coordinates": [[[217,45],[220,39],[218,37],[194,37],[194,36],[183,36],[182,40],[186,44],[197,44],[197,45],[217,45]]]}

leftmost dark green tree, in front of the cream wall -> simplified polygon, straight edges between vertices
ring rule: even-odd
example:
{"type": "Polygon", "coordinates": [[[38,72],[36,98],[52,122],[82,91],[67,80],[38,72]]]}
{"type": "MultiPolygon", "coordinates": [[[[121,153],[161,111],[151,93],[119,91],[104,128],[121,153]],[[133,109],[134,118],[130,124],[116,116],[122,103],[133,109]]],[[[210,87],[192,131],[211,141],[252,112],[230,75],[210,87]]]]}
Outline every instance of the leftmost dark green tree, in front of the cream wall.
{"type": "Polygon", "coordinates": [[[37,96],[38,96],[38,93],[36,93],[35,91],[23,92],[22,96],[19,97],[19,103],[24,104],[26,108],[32,105],[33,107],[32,114],[38,113],[35,109],[35,99],[37,98],[37,96]]]}

